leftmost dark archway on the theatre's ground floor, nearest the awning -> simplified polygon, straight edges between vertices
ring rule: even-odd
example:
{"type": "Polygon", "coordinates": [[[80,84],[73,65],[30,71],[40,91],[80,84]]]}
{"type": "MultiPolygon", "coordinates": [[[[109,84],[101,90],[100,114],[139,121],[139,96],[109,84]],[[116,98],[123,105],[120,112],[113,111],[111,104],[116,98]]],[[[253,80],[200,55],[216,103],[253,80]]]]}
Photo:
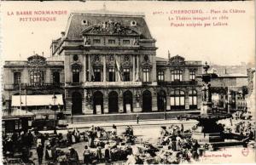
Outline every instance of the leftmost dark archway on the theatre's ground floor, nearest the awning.
{"type": "Polygon", "coordinates": [[[82,94],[73,92],[72,94],[72,114],[82,113],[82,94]]]}

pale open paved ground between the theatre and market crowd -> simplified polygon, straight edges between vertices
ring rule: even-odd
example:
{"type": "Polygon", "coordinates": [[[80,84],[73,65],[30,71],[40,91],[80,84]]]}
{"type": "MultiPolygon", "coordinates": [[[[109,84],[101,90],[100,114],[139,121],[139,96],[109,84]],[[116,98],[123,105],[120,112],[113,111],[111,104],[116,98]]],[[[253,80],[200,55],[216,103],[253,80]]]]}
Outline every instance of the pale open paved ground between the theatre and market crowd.
{"type": "MultiPolygon", "coordinates": [[[[125,121],[125,122],[94,122],[94,123],[73,123],[69,124],[68,128],[79,128],[80,132],[83,132],[84,130],[88,129],[91,125],[94,125],[95,127],[102,127],[107,131],[110,131],[112,129],[113,124],[117,126],[117,134],[120,135],[123,132],[125,132],[125,128],[127,125],[131,125],[133,127],[134,135],[137,136],[137,139],[139,141],[148,141],[152,144],[156,144],[157,139],[160,137],[160,126],[168,126],[171,124],[177,124],[180,125],[183,123],[184,129],[189,129],[193,127],[196,123],[196,121],[177,121],[177,120],[154,120],[154,121],[141,121],[139,124],[137,124],[137,121],[125,121]]],[[[41,131],[42,133],[53,133],[53,131],[41,131]]],[[[63,136],[66,138],[67,135],[67,129],[58,130],[57,133],[63,134],[63,136]]],[[[84,151],[84,145],[87,145],[86,142],[80,142],[78,144],[74,144],[73,148],[78,151],[79,153],[79,159],[82,160],[83,151],[84,151]]],[[[61,149],[63,151],[68,151],[67,148],[61,149]]],[[[33,157],[32,159],[34,162],[38,164],[38,157],[35,150],[32,150],[33,157]]]]}

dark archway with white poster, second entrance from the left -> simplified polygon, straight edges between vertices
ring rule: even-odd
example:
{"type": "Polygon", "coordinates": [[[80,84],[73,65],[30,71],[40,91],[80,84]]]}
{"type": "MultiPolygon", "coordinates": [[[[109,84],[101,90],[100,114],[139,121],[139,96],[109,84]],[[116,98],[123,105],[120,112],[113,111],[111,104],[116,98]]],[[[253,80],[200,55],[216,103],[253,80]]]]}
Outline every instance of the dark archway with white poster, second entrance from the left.
{"type": "Polygon", "coordinates": [[[103,113],[103,94],[100,91],[96,91],[93,94],[93,114],[103,113]]]}

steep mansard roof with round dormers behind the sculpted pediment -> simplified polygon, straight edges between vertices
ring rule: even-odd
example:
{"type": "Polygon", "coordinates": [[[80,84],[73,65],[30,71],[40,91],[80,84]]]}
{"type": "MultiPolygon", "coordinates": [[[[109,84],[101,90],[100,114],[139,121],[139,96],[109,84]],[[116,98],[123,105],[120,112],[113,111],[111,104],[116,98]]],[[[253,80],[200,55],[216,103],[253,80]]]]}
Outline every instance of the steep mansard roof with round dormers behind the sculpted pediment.
{"type": "Polygon", "coordinates": [[[108,10],[77,12],[69,16],[65,37],[81,38],[82,33],[90,27],[102,25],[104,22],[118,22],[125,29],[136,31],[143,39],[153,39],[143,14],[127,14],[109,12],[108,10]],[[134,21],[136,26],[132,26],[134,21]]]}

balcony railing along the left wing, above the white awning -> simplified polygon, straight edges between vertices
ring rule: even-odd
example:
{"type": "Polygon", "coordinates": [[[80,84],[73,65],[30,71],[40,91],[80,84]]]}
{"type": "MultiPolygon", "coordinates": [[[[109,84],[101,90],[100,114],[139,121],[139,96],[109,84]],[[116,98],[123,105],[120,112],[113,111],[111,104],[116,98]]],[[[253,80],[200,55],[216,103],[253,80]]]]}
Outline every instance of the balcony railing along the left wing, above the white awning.
{"type": "Polygon", "coordinates": [[[4,89],[53,89],[53,88],[62,88],[64,83],[13,83],[13,84],[4,84],[4,89]]]}

